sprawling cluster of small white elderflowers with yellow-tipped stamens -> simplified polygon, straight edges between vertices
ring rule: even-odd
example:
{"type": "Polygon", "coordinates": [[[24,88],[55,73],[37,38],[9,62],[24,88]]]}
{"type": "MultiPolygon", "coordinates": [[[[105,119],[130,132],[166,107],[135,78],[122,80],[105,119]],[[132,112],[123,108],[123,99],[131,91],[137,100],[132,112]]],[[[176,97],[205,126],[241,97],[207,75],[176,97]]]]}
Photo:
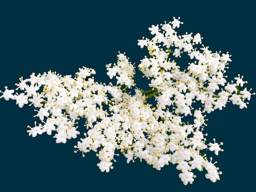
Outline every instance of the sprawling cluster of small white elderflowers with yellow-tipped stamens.
{"type": "Polygon", "coordinates": [[[19,107],[35,107],[34,117],[40,123],[28,126],[29,136],[46,132],[54,135],[56,143],[66,143],[82,132],[74,152],[85,156],[94,151],[101,172],[109,172],[116,161],[114,156],[120,153],[127,163],[139,159],[157,170],[170,163],[176,165],[184,185],[193,183],[193,170],[205,169],[205,177],[216,182],[221,172],[212,157],[207,159],[206,150],[218,155],[223,143],[215,139],[207,143],[203,133],[206,116],[222,110],[228,102],[246,108],[246,100],[255,93],[243,88],[247,83],[243,76],[230,83],[225,79],[231,61],[228,52],[210,51],[202,45],[200,33],[178,35],[179,19],[152,25],[148,29],[153,38],[138,40],[149,53],[138,65],[149,80],[149,90],[135,87],[135,66],[125,53],[119,53],[117,63],[106,65],[107,75],[115,77],[115,83],[94,81],[96,72],[87,67],[79,68],[74,78],[48,71],[21,77],[17,92],[5,87],[1,97],[15,100],[19,107]],[[182,54],[191,59],[183,70],[174,60],[182,54]],[[151,97],[155,97],[156,105],[148,103],[151,97]],[[186,116],[191,122],[184,123],[186,116]],[[77,126],[81,118],[85,128],[77,126]]]}

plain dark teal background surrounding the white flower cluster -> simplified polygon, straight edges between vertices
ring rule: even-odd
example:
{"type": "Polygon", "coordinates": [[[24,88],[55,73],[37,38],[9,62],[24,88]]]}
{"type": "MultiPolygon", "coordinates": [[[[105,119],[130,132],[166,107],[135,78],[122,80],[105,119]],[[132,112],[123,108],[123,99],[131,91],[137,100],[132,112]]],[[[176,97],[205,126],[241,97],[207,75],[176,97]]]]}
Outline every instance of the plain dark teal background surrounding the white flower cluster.
{"type": "MultiPolygon", "coordinates": [[[[118,51],[132,63],[144,58],[137,39],[150,37],[148,27],[181,17],[180,34],[199,32],[212,51],[229,51],[232,62],[228,79],[241,74],[246,87],[256,90],[254,6],[233,1],[8,1],[0,2],[0,89],[16,88],[19,77],[32,72],[57,71],[68,75],[79,67],[96,70],[95,80],[108,82],[105,65],[115,63],[118,51]]],[[[136,74],[139,87],[148,82],[136,74]]],[[[114,169],[101,173],[94,152],[74,154],[73,139],[56,144],[52,136],[28,136],[34,125],[32,107],[20,109],[14,101],[0,99],[0,191],[252,191],[255,175],[255,107],[252,96],[247,109],[231,103],[208,116],[207,141],[222,141],[225,150],[213,161],[223,174],[212,183],[206,172],[196,172],[193,185],[184,186],[175,165],[161,171],[139,161],[126,163],[116,157],[114,169]],[[90,190],[89,190],[90,191],[90,190]]],[[[39,122],[39,121],[38,121],[39,122]]]]}

